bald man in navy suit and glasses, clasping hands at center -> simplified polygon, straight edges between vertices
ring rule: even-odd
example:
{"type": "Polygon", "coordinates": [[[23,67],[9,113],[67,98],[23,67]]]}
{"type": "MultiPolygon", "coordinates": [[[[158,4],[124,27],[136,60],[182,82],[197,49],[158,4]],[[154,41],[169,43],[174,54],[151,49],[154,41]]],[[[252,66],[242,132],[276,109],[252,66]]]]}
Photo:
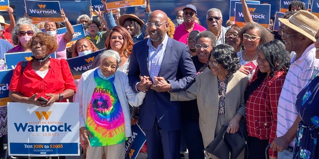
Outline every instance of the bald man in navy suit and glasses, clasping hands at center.
{"type": "Polygon", "coordinates": [[[146,23],[150,38],[136,43],[131,54],[129,81],[134,91],[147,91],[140,106],[149,159],[179,159],[180,105],[169,91],[188,88],[196,77],[187,46],[169,38],[167,15],[153,11],[146,23]],[[169,84],[153,84],[158,77],[169,84]]]}

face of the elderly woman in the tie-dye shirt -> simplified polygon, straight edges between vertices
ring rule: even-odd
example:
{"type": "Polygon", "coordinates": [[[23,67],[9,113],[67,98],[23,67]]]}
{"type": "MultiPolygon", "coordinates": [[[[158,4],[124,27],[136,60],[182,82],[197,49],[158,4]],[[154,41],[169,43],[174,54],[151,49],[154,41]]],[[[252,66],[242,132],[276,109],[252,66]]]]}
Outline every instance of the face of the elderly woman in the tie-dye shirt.
{"type": "Polygon", "coordinates": [[[101,61],[101,72],[104,77],[114,75],[117,69],[117,61],[113,57],[107,57],[101,61]]]}

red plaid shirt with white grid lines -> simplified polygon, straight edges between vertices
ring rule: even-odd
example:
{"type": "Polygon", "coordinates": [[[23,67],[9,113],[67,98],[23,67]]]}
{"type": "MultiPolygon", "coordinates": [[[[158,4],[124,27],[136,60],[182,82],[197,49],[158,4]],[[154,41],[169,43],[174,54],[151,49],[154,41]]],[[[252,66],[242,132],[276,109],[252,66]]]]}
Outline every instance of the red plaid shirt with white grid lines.
{"type": "MultiPolygon", "coordinates": [[[[246,102],[248,135],[261,140],[276,138],[277,108],[286,73],[277,72],[265,79],[249,96],[246,102]]],[[[277,157],[277,152],[269,151],[269,156],[277,157]]]]}

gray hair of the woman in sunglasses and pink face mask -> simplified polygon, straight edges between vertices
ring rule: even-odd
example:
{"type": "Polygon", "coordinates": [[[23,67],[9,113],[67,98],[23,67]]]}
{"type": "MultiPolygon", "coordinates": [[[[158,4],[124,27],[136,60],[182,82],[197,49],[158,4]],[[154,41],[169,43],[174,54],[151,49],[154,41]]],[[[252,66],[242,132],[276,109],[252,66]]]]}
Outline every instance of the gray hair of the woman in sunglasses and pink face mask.
{"type": "Polygon", "coordinates": [[[40,29],[38,29],[34,24],[33,21],[29,18],[29,17],[21,17],[17,20],[14,28],[11,31],[11,36],[12,36],[12,43],[14,45],[18,45],[19,44],[19,39],[16,36],[19,32],[20,26],[21,25],[30,25],[33,31],[33,35],[38,33],[38,32],[42,32],[40,29]]]}

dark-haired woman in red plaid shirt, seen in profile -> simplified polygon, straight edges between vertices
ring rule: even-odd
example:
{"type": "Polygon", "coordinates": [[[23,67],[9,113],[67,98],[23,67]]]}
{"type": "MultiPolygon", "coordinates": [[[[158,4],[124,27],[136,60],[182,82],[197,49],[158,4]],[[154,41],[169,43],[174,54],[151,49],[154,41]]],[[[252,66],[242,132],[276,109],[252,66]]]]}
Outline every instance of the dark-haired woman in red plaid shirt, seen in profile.
{"type": "MultiPolygon", "coordinates": [[[[268,42],[260,48],[257,63],[257,76],[245,91],[248,159],[265,159],[267,145],[276,138],[278,100],[290,67],[289,52],[279,40],[268,42]]],[[[277,152],[269,150],[269,156],[277,159],[277,152]]]]}

